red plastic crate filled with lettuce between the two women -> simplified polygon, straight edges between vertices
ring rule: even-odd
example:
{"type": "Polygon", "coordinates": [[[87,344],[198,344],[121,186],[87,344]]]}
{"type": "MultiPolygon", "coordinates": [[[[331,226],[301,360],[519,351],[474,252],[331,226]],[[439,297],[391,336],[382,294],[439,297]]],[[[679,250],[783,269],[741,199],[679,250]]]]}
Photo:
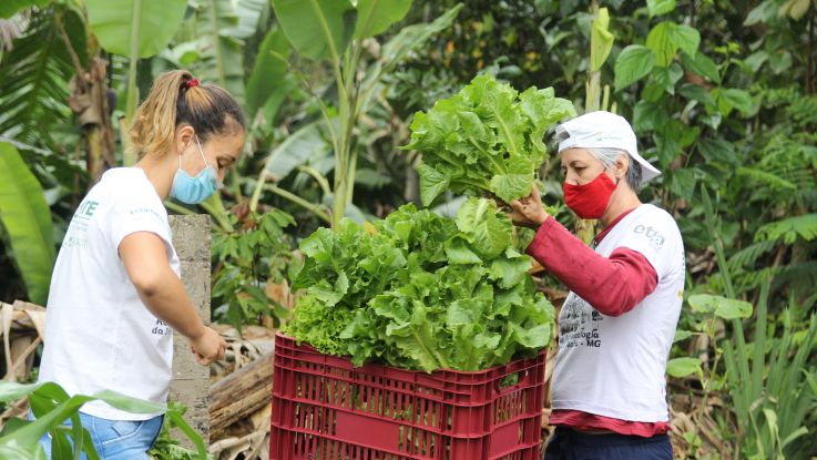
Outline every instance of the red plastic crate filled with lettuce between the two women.
{"type": "Polygon", "coordinates": [[[544,351],[432,374],[275,336],[270,460],[539,460],[544,351]]]}

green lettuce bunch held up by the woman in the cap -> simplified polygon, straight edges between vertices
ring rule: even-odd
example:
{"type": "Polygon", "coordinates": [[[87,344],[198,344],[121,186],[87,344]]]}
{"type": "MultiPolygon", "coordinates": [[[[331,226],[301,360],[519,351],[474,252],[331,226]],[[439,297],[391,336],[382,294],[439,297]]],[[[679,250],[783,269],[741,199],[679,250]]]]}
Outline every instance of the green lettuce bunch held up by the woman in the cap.
{"type": "Polygon", "coordinates": [[[531,193],[534,172],[544,162],[545,131],[575,115],[573,104],[553,89],[531,86],[521,94],[492,75],[474,78],[459,93],[417,112],[406,150],[422,153],[420,198],[430,205],[440,194],[493,194],[504,202],[531,193]]]}

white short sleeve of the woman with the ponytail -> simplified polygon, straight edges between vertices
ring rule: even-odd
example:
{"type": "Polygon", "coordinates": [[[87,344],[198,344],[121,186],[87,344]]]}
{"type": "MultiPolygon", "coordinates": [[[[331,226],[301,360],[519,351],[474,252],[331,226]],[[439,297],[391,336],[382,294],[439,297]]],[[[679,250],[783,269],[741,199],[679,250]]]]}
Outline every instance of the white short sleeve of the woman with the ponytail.
{"type": "Polygon", "coordinates": [[[136,232],[150,232],[162,238],[167,254],[171,254],[172,236],[167,214],[147,200],[127,197],[119,200],[111,209],[111,243],[119,254],[119,246],[125,236],[136,232]]]}

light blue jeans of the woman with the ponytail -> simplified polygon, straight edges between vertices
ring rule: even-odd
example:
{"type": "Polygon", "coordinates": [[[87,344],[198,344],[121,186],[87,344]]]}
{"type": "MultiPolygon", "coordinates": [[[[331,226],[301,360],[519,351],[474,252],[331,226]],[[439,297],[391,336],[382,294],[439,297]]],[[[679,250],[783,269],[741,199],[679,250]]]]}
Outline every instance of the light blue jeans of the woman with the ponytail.
{"type": "MultiPolygon", "coordinates": [[[[33,419],[31,412],[29,419],[33,419]]],[[[91,435],[93,447],[103,460],[145,460],[162,431],[163,419],[164,416],[149,420],[108,420],[80,412],[80,421],[91,435]]],[[[71,426],[71,420],[65,420],[64,425],[71,426]]],[[[51,436],[45,433],[40,444],[51,459],[51,436]]],[[[85,453],[82,452],[80,458],[86,460],[85,453]]]]}

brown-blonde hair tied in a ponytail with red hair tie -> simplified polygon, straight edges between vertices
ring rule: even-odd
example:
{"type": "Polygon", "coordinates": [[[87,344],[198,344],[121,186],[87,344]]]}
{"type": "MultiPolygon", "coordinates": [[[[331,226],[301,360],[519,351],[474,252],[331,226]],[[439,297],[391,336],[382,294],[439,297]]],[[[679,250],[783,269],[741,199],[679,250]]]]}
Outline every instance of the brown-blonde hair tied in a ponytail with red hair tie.
{"type": "Polygon", "coordinates": [[[245,129],[244,114],[229,93],[214,84],[198,84],[186,70],[174,70],[156,79],[136,110],[131,126],[133,150],[139,156],[171,151],[182,124],[193,126],[201,142],[211,134],[245,129]]]}

